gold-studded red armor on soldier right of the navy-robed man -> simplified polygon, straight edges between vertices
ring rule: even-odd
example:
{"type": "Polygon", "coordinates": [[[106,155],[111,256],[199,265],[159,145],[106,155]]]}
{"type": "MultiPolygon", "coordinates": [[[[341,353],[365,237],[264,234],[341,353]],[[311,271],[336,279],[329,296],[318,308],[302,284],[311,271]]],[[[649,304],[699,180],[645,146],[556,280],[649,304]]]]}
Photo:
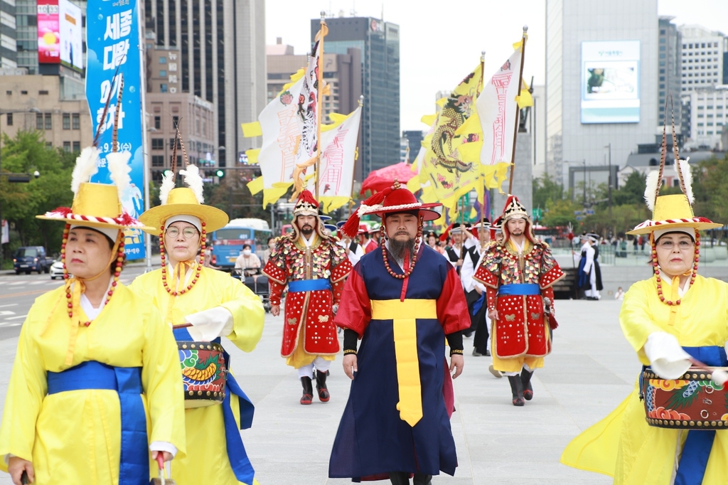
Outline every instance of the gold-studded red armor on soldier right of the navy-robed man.
{"type": "Polygon", "coordinates": [[[553,283],[563,277],[548,245],[526,241],[523,254],[512,245],[491,242],[475,272],[475,280],[486,286],[488,310],[498,310],[491,334],[498,358],[543,357],[551,352],[544,298],[553,305],[553,283]],[[498,295],[501,285],[535,283],[539,295],[498,295]]]}

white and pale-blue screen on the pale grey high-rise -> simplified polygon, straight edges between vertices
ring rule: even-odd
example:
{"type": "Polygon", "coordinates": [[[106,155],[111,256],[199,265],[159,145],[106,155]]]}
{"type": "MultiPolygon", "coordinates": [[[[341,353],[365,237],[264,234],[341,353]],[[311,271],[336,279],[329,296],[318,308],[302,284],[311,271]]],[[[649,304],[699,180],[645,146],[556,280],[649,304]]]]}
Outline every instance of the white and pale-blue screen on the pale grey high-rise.
{"type": "Polygon", "coordinates": [[[582,123],[638,123],[640,42],[582,42],[582,123]]]}

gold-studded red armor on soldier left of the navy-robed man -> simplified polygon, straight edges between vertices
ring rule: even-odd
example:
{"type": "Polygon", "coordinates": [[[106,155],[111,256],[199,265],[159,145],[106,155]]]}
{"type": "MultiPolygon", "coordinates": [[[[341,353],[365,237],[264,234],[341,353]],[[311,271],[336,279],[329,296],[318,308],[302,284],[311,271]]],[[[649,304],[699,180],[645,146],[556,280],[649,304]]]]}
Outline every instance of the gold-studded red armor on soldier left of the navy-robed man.
{"type": "Polygon", "coordinates": [[[300,240],[281,237],[263,269],[271,286],[271,304],[280,305],[281,295],[293,280],[331,281],[331,290],[296,291],[285,299],[283,341],[280,353],[293,355],[298,347],[299,328],[304,323],[304,350],[314,355],[336,355],[339,339],[333,324],[334,304],[339,304],[344,280],[352,270],[344,248],[333,239],[317,240],[306,248],[300,240]]]}

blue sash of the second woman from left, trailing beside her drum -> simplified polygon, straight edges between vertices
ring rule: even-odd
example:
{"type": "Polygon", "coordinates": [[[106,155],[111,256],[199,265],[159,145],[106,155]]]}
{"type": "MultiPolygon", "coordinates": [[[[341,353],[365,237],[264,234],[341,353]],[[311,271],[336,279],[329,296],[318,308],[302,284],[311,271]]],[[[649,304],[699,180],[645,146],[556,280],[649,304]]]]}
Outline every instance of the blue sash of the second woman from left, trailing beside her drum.
{"type": "MultiPolygon", "coordinates": [[[[328,280],[323,281],[328,282],[328,280]]],[[[175,328],[173,333],[175,340],[177,341],[190,342],[194,340],[186,328],[175,328]]],[[[213,342],[219,344],[220,337],[213,340],[213,342]]],[[[230,370],[230,355],[223,350],[223,356],[225,358],[225,365],[228,370],[230,370]]],[[[253,411],[255,411],[255,406],[253,406],[253,402],[250,401],[248,396],[242,392],[240,385],[237,384],[237,381],[232,374],[229,372],[226,373],[225,379],[226,392],[221,406],[223,406],[225,446],[228,454],[228,460],[232,467],[232,471],[235,474],[235,478],[237,478],[238,481],[242,481],[245,484],[253,484],[253,476],[255,476],[256,472],[253,470],[253,465],[250,464],[248,453],[245,452],[245,445],[242,444],[240,430],[238,430],[237,423],[235,422],[235,415],[233,414],[232,406],[230,405],[230,394],[232,393],[238,397],[241,430],[247,430],[253,425],[253,411]]]]}

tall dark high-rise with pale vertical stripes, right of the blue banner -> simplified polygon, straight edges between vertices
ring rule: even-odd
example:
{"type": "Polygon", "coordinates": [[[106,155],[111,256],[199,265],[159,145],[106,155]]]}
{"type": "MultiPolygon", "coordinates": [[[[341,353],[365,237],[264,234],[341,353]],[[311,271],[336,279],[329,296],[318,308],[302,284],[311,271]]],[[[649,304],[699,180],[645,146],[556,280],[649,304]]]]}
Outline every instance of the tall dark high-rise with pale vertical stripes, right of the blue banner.
{"type": "Polygon", "coordinates": [[[256,121],[266,103],[265,1],[144,0],[142,8],[147,50],[180,52],[179,89],[212,103],[212,157],[235,166],[260,143],[243,138],[240,124],[256,121]]]}

